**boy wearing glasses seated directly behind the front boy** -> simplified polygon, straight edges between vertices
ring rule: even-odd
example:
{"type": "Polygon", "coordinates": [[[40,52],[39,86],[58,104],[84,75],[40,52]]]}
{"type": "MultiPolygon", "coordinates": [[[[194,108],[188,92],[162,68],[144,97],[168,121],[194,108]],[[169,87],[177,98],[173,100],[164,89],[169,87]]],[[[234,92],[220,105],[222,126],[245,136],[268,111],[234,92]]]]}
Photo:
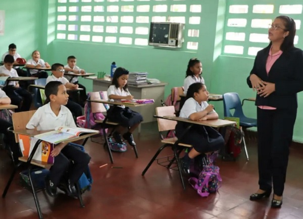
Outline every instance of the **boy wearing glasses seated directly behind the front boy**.
{"type": "MultiPolygon", "coordinates": [[[[52,75],[47,77],[46,84],[51,81],[60,81],[62,84],[65,85],[66,88],[71,90],[76,90],[78,88],[78,85],[68,82],[68,80],[65,77],[63,77],[64,72],[65,72],[64,65],[60,63],[53,64],[52,75]]],[[[77,91],[73,91],[73,92],[77,92],[77,91]]],[[[72,114],[75,117],[75,120],[77,119],[77,117],[82,116],[82,108],[81,105],[79,105],[78,103],[69,99],[66,104],[66,107],[68,107],[68,109],[72,112],[72,114]]]]}

